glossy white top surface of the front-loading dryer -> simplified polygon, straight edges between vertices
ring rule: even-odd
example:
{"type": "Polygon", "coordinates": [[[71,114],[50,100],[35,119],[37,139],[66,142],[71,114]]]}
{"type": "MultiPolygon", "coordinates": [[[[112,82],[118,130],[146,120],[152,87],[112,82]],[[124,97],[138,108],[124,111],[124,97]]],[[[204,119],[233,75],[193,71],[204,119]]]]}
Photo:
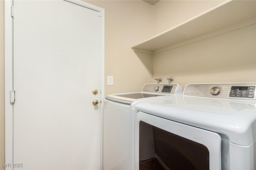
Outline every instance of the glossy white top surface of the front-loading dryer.
{"type": "Polygon", "coordinates": [[[238,145],[256,140],[256,101],[173,96],[136,105],[142,111],[214,131],[238,145]]]}

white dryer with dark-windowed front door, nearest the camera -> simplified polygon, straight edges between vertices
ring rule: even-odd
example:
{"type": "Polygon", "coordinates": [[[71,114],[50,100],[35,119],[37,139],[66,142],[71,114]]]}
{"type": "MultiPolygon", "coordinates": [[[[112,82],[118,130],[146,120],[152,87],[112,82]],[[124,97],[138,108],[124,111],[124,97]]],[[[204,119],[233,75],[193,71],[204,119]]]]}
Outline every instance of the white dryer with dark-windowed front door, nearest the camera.
{"type": "Polygon", "coordinates": [[[255,87],[188,84],[183,96],[138,103],[136,169],[256,170],[255,87]]]}

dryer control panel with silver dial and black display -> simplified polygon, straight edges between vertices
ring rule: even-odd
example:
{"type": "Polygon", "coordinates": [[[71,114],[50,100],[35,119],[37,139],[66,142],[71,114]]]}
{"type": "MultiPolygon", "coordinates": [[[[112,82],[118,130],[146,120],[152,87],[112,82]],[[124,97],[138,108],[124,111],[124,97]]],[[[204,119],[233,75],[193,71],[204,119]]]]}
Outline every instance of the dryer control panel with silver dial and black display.
{"type": "Polygon", "coordinates": [[[188,84],[187,96],[256,100],[256,83],[188,84]]]}

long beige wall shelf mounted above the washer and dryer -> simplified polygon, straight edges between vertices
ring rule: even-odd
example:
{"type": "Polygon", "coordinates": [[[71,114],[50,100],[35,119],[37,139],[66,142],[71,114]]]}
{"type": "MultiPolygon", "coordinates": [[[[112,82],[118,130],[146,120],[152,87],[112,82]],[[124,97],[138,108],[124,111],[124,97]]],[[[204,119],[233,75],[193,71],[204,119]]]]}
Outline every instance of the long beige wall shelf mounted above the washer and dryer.
{"type": "Polygon", "coordinates": [[[184,42],[198,41],[256,23],[255,0],[229,0],[164,31],[134,47],[141,53],[156,54],[184,42]]]}

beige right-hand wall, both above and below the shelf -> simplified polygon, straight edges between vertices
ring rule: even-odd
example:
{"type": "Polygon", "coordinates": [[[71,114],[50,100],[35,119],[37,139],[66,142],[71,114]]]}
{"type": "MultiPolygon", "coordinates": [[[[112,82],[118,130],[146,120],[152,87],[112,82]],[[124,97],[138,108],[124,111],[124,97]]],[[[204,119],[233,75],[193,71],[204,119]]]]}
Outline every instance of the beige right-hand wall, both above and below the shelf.
{"type": "MultiPolygon", "coordinates": [[[[154,33],[220,2],[160,1],[154,6],[154,33]]],[[[170,76],[174,76],[174,83],[182,89],[189,83],[256,82],[255,24],[155,54],[153,77],[165,80],[170,76]]]]}

